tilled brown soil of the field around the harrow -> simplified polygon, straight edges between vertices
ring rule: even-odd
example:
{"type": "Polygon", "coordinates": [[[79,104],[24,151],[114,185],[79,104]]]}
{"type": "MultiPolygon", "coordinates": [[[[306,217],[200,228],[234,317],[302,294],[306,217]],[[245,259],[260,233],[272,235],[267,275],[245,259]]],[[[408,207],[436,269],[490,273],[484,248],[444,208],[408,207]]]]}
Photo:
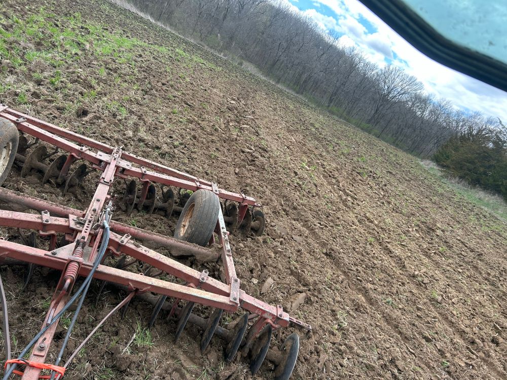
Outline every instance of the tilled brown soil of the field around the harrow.
{"type": "MultiPolygon", "coordinates": [[[[261,238],[231,237],[236,269],[245,291],[286,310],[294,306],[291,313],[312,324],[314,331],[301,335],[293,378],[507,377],[505,224],[415,158],[105,1],[7,0],[0,26],[12,32],[13,16],[24,24],[42,5],[43,18],[60,32],[73,31],[71,38],[90,35],[90,25],[109,34],[90,37],[77,51],[65,37],[45,45],[45,32],[9,36],[8,48],[22,57],[35,50],[71,59],[59,67],[42,58],[22,60],[17,68],[4,61],[0,77],[9,87],[0,100],[258,199],[266,231],[261,238]],[[114,36],[148,45],[123,46],[118,56],[106,48],[98,54],[97,46],[114,36]],[[269,277],[274,284],[261,294],[269,277]]],[[[37,174],[20,178],[15,169],[5,186],[84,207],[96,183],[90,175],[76,194],[62,198],[39,180],[37,174]]],[[[118,181],[118,194],[123,188],[118,181]]],[[[161,215],[119,212],[115,218],[166,234],[174,225],[161,215]]],[[[6,229],[2,236],[19,239],[6,229]]],[[[205,268],[220,277],[215,264],[205,268]]],[[[39,329],[59,274],[37,269],[22,292],[23,268],[1,273],[19,352],[39,329]]],[[[97,288],[69,352],[124,296],[108,288],[95,307],[97,288]]],[[[161,317],[152,347],[125,350],[151,311],[134,299],[125,319],[108,321],[66,378],[251,377],[247,362],[223,362],[219,338],[201,356],[196,327],[188,326],[174,344],[175,322],[161,317]]],[[[230,320],[223,318],[224,326],[230,320]]],[[[277,332],[274,344],[291,332],[277,332]]],[[[57,341],[64,334],[59,327],[57,341]]],[[[272,378],[272,368],[266,362],[255,378],[272,378]]]]}

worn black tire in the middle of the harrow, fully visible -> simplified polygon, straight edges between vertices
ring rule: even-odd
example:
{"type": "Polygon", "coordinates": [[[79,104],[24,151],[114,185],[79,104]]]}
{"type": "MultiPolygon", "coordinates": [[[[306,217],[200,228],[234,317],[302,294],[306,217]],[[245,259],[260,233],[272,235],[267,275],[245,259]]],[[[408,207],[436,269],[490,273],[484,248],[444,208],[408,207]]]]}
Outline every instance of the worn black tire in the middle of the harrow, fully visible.
{"type": "Polygon", "coordinates": [[[196,191],[179,215],[174,237],[205,247],[213,235],[219,213],[219,197],[207,190],[196,191]]]}

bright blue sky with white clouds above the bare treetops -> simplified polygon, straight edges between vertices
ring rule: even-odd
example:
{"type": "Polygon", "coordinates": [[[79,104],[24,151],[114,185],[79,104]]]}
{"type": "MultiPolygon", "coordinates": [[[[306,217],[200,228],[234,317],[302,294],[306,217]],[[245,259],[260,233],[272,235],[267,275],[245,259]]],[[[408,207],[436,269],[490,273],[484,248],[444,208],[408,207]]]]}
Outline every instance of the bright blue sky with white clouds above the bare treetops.
{"type": "Polygon", "coordinates": [[[437,63],[420,53],[357,0],[281,0],[311,17],[324,31],[355,46],[379,66],[394,64],[414,75],[429,94],[466,112],[507,122],[507,93],[437,63]]]}

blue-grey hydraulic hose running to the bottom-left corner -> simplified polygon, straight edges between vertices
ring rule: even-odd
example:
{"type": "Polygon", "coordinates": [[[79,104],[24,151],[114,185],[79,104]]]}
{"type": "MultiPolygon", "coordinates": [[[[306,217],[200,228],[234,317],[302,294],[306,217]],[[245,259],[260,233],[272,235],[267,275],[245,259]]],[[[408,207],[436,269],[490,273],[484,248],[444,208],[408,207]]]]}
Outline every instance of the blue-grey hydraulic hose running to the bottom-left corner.
{"type": "MultiPolygon", "coordinates": [[[[105,251],[107,250],[107,245],[109,244],[109,236],[110,236],[110,232],[109,232],[109,223],[107,222],[107,219],[108,219],[108,214],[109,214],[109,210],[106,209],[105,211],[105,217],[104,217],[104,221],[103,221],[103,225],[104,225],[104,231],[105,231],[105,234],[104,234],[104,237],[102,239],[102,243],[100,244],[100,249],[99,249],[99,253],[97,255],[97,258],[95,259],[95,262],[93,264],[93,268],[91,269],[90,273],[88,274],[88,276],[86,277],[85,281],[83,281],[83,283],[81,284],[81,286],[79,287],[79,289],[76,291],[76,293],[74,293],[74,295],[69,299],[69,301],[65,304],[65,306],[63,307],[62,310],[60,310],[58,312],[58,314],[56,314],[53,319],[51,321],[49,321],[49,323],[44,326],[44,328],[37,334],[33,337],[33,339],[30,341],[30,343],[28,343],[28,345],[23,349],[23,351],[21,351],[21,353],[19,354],[18,356],[18,359],[23,359],[23,356],[26,355],[26,353],[32,348],[32,346],[40,339],[40,337],[48,330],[48,328],[51,327],[51,325],[53,325],[56,321],[58,321],[58,319],[63,315],[63,313],[65,313],[68,308],[70,308],[71,305],[73,305],[73,303],[76,301],[76,299],[78,299],[78,297],[81,295],[81,293],[83,293],[83,291],[85,290],[86,288],[86,291],[88,291],[88,288],[90,286],[90,283],[91,283],[91,280],[93,278],[93,274],[95,273],[95,271],[97,270],[98,268],[98,265],[102,262],[102,258],[104,257],[104,254],[105,254],[105,251]]],[[[82,299],[80,300],[80,304],[82,305],[82,300],[84,299],[85,295],[86,295],[86,291],[85,293],[83,294],[82,296],[82,299]]],[[[79,306],[81,307],[81,306],[79,306]]],[[[79,310],[76,311],[76,314],[75,314],[75,317],[77,316],[77,312],[79,310]]],[[[66,337],[67,338],[67,337],[66,337]]],[[[68,339],[67,339],[68,340],[68,339]]],[[[60,357],[61,355],[59,355],[60,357]]],[[[17,364],[12,364],[10,367],[9,367],[9,370],[5,373],[4,377],[3,377],[3,380],[8,380],[9,379],[9,376],[12,374],[12,372],[16,369],[17,367],[17,364]]]]}

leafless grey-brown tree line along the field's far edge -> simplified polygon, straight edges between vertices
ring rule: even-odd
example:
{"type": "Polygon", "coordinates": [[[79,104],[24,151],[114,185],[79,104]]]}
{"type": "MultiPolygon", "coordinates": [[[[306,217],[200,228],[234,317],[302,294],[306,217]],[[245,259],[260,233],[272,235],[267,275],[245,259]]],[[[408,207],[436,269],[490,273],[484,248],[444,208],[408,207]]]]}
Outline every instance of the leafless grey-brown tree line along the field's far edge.
{"type": "Polygon", "coordinates": [[[480,134],[484,128],[491,132],[502,126],[499,120],[469,115],[446,99],[426,94],[423,85],[400,67],[378,67],[357,49],[340,46],[337,36],[283,3],[127,3],[191,40],[255,65],[275,83],[418,157],[432,157],[450,139],[456,144],[474,138],[472,131],[480,134]]]}

